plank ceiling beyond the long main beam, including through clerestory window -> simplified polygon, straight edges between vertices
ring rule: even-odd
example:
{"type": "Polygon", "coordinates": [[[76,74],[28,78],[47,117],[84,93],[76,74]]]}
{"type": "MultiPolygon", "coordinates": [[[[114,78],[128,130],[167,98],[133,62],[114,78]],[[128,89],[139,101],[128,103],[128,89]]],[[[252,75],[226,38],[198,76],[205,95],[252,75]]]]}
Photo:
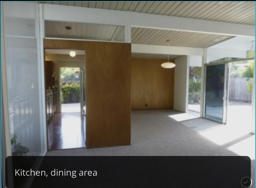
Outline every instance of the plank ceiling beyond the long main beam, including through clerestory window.
{"type": "MultiPolygon", "coordinates": [[[[46,21],[45,36],[50,38],[124,42],[125,31],[124,27],[120,26],[46,21]],[[71,26],[72,29],[67,30],[65,28],[66,26],[71,26]]],[[[132,28],[132,44],[205,48],[229,39],[230,37],[232,36],[150,28],[132,28]],[[219,41],[214,41],[219,37],[224,38],[219,41]],[[166,42],[168,39],[170,41],[166,42]]]]}

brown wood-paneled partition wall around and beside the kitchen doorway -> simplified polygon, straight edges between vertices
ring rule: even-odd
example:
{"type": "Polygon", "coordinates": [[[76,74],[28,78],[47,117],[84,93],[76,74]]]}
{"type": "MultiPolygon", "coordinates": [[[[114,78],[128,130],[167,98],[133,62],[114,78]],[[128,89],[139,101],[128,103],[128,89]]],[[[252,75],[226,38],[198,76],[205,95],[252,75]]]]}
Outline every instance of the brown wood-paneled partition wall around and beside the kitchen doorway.
{"type": "Polygon", "coordinates": [[[131,143],[131,44],[44,40],[44,48],[85,50],[87,147],[131,143]]]}

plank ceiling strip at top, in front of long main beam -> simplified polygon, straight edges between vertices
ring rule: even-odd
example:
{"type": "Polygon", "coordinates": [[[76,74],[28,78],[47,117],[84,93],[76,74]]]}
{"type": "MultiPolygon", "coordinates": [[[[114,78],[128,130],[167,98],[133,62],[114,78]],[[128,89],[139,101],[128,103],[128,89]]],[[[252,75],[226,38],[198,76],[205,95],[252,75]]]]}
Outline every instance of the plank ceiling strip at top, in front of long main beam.
{"type": "Polygon", "coordinates": [[[197,18],[238,24],[255,25],[255,2],[43,2],[66,6],[133,11],[175,17],[197,18]]]}

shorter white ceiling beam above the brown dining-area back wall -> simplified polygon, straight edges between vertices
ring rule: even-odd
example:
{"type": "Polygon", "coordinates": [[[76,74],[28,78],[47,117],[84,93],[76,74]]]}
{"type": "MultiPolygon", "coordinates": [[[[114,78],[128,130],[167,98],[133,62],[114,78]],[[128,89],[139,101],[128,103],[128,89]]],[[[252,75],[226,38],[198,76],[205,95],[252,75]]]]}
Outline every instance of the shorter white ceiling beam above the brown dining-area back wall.
{"type": "Polygon", "coordinates": [[[203,48],[189,48],[178,46],[158,46],[147,44],[132,44],[132,53],[153,53],[171,55],[203,55],[203,48]]]}

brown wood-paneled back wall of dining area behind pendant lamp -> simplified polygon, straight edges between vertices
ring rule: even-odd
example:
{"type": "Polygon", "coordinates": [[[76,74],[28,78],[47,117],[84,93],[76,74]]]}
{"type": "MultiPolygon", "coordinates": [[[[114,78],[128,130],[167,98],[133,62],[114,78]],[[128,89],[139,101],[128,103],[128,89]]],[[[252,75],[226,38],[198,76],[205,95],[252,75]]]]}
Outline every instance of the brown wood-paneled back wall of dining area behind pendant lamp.
{"type": "Polygon", "coordinates": [[[132,58],[132,110],[173,109],[174,68],[162,68],[163,62],[132,58]]]}

